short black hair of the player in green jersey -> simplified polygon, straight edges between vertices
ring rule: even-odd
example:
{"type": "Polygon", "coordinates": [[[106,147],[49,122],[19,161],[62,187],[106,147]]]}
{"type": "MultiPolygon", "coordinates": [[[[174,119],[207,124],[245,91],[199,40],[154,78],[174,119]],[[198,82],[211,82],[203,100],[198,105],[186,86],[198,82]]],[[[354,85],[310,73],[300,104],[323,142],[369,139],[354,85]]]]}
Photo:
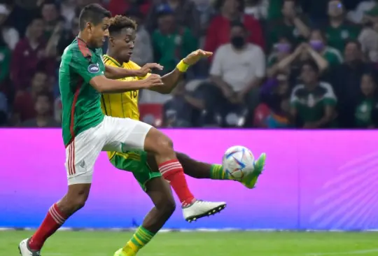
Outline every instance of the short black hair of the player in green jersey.
{"type": "Polygon", "coordinates": [[[79,15],[80,30],[85,29],[85,24],[90,22],[94,25],[100,24],[104,17],[111,17],[111,12],[97,3],[91,3],[81,10],[79,15]]]}

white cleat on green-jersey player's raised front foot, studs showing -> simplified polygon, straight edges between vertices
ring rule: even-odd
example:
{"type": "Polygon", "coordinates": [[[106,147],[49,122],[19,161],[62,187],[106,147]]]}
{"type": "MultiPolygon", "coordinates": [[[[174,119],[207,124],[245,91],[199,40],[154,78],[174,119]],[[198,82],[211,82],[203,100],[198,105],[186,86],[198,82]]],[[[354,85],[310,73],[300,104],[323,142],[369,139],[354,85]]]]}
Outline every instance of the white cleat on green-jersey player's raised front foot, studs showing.
{"type": "Polygon", "coordinates": [[[220,213],[227,204],[225,202],[211,202],[196,200],[188,206],[183,206],[183,217],[187,222],[198,220],[206,216],[220,213]]]}

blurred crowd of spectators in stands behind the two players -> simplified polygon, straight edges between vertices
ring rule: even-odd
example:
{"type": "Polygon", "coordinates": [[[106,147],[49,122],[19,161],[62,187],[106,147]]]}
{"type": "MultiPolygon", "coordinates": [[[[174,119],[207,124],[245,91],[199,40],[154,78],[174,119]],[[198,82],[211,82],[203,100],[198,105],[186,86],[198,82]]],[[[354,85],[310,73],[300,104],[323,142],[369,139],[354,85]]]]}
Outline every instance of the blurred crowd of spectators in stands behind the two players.
{"type": "Polygon", "coordinates": [[[144,122],[378,127],[373,0],[0,0],[0,126],[59,127],[59,57],[94,2],[138,22],[140,66],[169,72],[197,48],[214,52],[172,94],[142,92],[144,122]]]}

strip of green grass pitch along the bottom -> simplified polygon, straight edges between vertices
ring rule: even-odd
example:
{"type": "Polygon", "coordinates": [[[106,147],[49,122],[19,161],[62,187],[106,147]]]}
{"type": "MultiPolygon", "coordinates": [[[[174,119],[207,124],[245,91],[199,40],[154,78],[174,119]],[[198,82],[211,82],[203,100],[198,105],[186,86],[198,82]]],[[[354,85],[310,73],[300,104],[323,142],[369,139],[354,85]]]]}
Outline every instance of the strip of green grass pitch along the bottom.
{"type": "MultiPolygon", "coordinates": [[[[0,255],[18,255],[29,231],[1,231],[0,255]]],[[[57,232],[43,256],[113,256],[130,232],[57,232]]],[[[169,232],[158,234],[138,256],[378,255],[378,233],[169,232]]]]}

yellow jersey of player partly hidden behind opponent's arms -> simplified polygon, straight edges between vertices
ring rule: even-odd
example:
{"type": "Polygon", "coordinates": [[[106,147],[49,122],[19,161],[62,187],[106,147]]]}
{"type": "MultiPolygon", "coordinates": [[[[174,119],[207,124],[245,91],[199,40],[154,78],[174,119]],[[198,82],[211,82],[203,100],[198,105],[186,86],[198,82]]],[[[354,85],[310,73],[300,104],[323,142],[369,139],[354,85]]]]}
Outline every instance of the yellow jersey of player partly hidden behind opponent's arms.
{"type": "MultiPolygon", "coordinates": [[[[121,66],[116,59],[108,55],[104,55],[104,63],[109,66],[118,66],[123,69],[140,69],[141,67],[130,61],[123,63],[121,66]]],[[[148,75],[147,75],[148,76],[148,75]]],[[[123,81],[135,81],[144,78],[138,77],[127,77],[121,78],[119,80],[123,81]]],[[[113,116],[115,118],[131,118],[134,120],[139,120],[139,109],[138,109],[138,97],[139,90],[134,90],[130,92],[123,93],[104,93],[101,97],[101,108],[105,115],[113,116]]]]}

